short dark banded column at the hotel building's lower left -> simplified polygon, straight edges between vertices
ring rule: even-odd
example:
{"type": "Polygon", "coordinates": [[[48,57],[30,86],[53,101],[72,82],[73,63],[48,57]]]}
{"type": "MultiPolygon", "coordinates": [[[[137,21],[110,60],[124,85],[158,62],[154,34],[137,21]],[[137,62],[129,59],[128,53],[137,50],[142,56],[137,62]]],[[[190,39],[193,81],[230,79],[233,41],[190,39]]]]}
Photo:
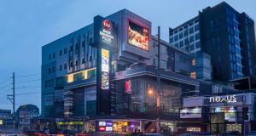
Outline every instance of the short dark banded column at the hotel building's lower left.
{"type": "Polygon", "coordinates": [[[64,100],[64,117],[68,118],[73,116],[73,91],[64,90],[63,100],[64,100]]]}

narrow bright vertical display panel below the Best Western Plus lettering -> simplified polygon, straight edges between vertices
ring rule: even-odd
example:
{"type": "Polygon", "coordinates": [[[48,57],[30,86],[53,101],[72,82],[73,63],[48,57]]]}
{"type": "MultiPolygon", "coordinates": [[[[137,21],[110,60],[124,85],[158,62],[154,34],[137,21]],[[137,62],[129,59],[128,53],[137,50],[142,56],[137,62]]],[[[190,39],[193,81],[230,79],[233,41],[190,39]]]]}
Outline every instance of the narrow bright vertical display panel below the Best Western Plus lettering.
{"type": "Polygon", "coordinates": [[[102,89],[109,89],[109,51],[102,48],[102,89]]]}

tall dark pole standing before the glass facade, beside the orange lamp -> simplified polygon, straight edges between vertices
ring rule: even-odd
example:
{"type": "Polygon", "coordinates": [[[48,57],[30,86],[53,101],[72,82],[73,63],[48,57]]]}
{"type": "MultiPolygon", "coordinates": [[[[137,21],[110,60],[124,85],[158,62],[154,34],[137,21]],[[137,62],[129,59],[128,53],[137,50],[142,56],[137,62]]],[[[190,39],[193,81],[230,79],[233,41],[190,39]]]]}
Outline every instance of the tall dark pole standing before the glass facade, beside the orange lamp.
{"type": "Polygon", "coordinates": [[[160,133],[160,26],[158,26],[158,53],[157,53],[157,97],[156,97],[156,106],[157,106],[157,122],[156,122],[156,132],[160,133]]]}

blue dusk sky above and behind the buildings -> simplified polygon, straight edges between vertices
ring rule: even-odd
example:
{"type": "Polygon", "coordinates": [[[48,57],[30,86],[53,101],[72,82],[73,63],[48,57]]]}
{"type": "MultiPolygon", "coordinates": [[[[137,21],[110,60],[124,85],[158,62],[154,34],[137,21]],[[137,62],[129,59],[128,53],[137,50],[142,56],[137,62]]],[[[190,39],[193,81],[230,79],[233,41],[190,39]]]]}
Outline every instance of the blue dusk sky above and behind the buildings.
{"type": "MultiPolygon", "coordinates": [[[[93,22],[96,15],[108,16],[120,9],[152,22],[153,34],[161,26],[168,41],[168,27],[175,27],[198,11],[220,0],[1,0],[0,1],[0,109],[12,109],[7,94],[16,75],[16,108],[41,107],[41,47],[93,22]]],[[[255,0],[226,1],[256,20],[255,0]]]]}

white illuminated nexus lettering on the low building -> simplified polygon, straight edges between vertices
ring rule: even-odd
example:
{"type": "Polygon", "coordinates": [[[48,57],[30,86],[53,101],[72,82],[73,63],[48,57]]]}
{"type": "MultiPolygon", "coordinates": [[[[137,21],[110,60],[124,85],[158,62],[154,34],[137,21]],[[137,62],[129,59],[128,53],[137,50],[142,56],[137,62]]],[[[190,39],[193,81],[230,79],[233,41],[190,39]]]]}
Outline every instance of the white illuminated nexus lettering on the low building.
{"type": "Polygon", "coordinates": [[[213,96],[210,97],[210,103],[236,103],[236,95],[213,96]]]}

